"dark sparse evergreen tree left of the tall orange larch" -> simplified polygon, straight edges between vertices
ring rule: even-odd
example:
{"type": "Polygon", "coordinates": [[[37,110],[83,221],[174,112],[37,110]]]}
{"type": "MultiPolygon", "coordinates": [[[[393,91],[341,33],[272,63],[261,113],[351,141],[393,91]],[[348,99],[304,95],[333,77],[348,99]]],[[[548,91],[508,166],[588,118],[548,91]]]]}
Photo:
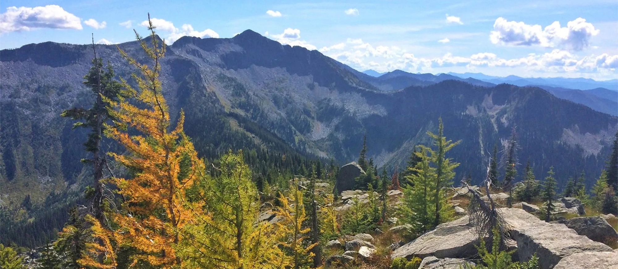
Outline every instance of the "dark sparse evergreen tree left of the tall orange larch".
{"type": "Polygon", "coordinates": [[[83,79],[83,85],[90,89],[95,101],[90,108],[70,108],[62,111],[62,117],[70,117],[77,120],[73,124],[73,128],[84,127],[90,129],[88,140],[83,145],[86,151],[92,153],[92,158],[82,159],[83,163],[93,164],[93,181],[92,189],[87,192],[87,198],[91,203],[91,212],[96,220],[104,225],[104,205],[103,205],[103,170],[106,167],[105,152],[101,149],[101,140],[103,134],[108,129],[108,123],[116,120],[116,116],[111,111],[112,103],[116,102],[125,96],[122,92],[121,83],[117,82],[114,77],[114,69],[111,64],[103,67],[103,59],[96,56],[95,43],[93,39],[92,50],[94,58],[92,66],[83,79]]]}

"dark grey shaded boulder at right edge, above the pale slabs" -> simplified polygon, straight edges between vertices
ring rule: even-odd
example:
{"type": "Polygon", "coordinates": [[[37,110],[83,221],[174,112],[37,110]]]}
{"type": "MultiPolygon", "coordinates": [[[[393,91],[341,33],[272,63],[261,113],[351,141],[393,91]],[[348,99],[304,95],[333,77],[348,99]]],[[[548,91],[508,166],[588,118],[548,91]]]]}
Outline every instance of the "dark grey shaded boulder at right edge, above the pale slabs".
{"type": "Polygon", "coordinates": [[[618,233],[600,216],[582,216],[570,220],[561,220],[567,227],[574,229],[581,236],[588,236],[596,242],[607,243],[618,241],[618,233]]]}

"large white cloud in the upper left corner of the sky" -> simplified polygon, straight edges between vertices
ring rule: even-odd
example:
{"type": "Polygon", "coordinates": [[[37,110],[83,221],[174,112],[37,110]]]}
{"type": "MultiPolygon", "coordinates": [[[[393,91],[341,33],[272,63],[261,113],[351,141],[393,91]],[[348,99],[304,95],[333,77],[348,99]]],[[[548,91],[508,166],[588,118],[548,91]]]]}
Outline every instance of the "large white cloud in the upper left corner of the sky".
{"type": "Polygon", "coordinates": [[[36,28],[82,30],[79,17],[57,5],[7,7],[0,14],[0,33],[30,31],[36,28]]]}

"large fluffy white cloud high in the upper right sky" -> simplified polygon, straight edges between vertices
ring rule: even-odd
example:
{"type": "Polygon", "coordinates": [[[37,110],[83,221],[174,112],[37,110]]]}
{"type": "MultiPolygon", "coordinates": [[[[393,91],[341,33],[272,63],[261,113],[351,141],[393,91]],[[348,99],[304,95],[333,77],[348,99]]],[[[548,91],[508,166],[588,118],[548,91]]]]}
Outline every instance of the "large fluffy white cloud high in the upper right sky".
{"type": "Polygon", "coordinates": [[[508,21],[499,17],[494,22],[494,30],[489,40],[494,44],[512,46],[538,45],[546,48],[564,48],[581,51],[590,45],[591,36],[598,35],[599,30],[583,18],[577,18],[561,27],[560,22],[553,22],[542,28],[541,25],[529,25],[524,22],[508,21]]]}

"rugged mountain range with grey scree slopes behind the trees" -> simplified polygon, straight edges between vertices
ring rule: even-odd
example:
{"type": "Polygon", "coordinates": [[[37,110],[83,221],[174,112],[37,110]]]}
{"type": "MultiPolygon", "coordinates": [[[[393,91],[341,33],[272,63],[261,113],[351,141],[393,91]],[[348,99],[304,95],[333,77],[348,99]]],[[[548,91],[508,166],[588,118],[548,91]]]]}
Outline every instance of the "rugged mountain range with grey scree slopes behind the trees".
{"type": "MultiPolygon", "coordinates": [[[[137,41],[117,46],[146,59],[137,41]]],[[[116,46],[96,51],[120,77],[135,72],[116,46]]],[[[87,176],[79,163],[86,133],[59,114],[93,98],[81,83],[92,48],[46,42],[0,54],[0,199],[16,203],[38,192],[33,202],[41,202],[87,176]]],[[[344,164],[366,136],[368,156],[392,170],[405,166],[415,145],[430,143],[426,132],[436,132],[441,118],[447,139],[461,140],[449,152],[461,163],[456,182],[467,174],[481,181],[489,152],[503,148],[515,127],[520,163],[529,160],[539,177],[554,166],[559,184],[585,171],[590,185],[618,130],[616,116],[555,94],[568,91],[401,70],[374,77],[251,30],[180,38],[167,47],[161,80],[171,115],[185,111],[185,132],[208,158],[227,148],[292,148],[344,164]]],[[[601,97],[611,91],[593,96],[608,111],[615,103],[601,97]]]]}

